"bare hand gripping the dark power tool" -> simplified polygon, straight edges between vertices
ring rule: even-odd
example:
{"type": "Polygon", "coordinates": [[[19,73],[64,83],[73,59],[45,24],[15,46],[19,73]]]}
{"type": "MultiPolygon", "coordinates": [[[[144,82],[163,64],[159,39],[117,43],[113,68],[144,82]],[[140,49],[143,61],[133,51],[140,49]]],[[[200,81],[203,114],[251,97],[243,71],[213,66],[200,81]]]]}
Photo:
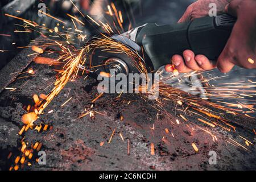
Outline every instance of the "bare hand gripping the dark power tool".
{"type": "MultiPolygon", "coordinates": [[[[199,18],[208,15],[208,0],[199,0],[188,7],[185,14],[179,22],[199,18]],[[206,11],[207,10],[207,11],[206,11]]],[[[234,25],[232,34],[218,57],[217,64],[213,64],[204,55],[195,55],[191,50],[185,50],[183,57],[174,55],[172,65],[166,65],[166,71],[190,72],[213,69],[216,66],[221,72],[229,72],[234,65],[244,68],[256,68],[254,64],[256,52],[256,1],[254,0],[233,0],[229,5],[228,1],[217,1],[221,3],[217,12],[222,12],[222,8],[233,16],[237,16],[237,22],[234,25]],[[220,8],[221,7],[221,8],[220,8]],[[226,8],[225,8],[226,7],[226,8]]]]}

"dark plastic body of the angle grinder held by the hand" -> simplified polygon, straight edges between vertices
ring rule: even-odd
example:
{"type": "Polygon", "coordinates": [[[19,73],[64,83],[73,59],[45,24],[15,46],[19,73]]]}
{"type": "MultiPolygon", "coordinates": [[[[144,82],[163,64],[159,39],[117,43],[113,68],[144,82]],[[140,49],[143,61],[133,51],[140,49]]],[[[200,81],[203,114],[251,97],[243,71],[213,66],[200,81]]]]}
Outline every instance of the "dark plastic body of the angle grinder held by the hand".
{"type": "Polygon", "coordinates": [[[171,57],[182,55],[185,49],[216,61],[228,41],[234,23],[236,18],[228,14],[174,25],[158,26],[150,23],[138,33],[135,42],[143,46],[155,71],[162,65],[170,64],[171,57]]]}

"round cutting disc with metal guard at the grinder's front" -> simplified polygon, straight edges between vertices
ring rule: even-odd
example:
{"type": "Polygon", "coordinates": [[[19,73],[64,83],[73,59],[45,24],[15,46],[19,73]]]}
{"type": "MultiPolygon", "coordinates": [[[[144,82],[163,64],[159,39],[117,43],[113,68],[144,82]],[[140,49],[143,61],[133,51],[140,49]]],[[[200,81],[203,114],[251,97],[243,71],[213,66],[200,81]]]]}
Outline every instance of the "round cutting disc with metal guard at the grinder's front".
{"type": "MultiPolygon", "coordinates": [[[[115,75],[123,73],[142,73],[146,63],[141,57],[142,49],[137,43],[122,35],[112,35],[110,38],[97,36],[89,40],[90,63],[94,72],[110,73],[114,69],[115,75]]],[[[145,68],[147,68],[145,66],[145,68]]]]}

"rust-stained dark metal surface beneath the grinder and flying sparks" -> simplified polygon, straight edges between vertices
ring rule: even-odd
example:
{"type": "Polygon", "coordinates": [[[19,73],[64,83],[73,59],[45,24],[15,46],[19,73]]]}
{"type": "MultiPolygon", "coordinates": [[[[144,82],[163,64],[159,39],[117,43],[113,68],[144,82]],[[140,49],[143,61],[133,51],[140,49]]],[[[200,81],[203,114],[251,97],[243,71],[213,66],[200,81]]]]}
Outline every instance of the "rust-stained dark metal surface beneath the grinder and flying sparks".
{"type": "MultiPolygon", "coordinates": [[[[20,71],[16,65],[18,57],[25,57],[30,49],[24,49],[21,55],[10,62],[0,75],[6,77],[10,72],[20,71]]],[[[55,57],[56,55],[44,54],[55,57]]],[[[30,59],[32,59],[30,57],[30,59]]],[[[30,63],[30,61],[27,61],[30,63]]],[[[28,64],[27,64],[28,65],[28,64]]],[[[0,94],[0,169],[8,169],[7,155],[10,151],[20,147],[21,137],[17,134],[22,122],[20,118],[26,113],[24,105],[32,104],[33,94],[48,94],[53,88],[56,72],[48,65],[30,63],[26,69],[36,71],[33,77],[17,79],[8,86],[17,88],[14,92],[3,90],[0,94]],[[50,86],[49,86],[50,85],[50,86]]],[[[69,82],[61,93],[52,101],[40,115],[40,122],[49,123],[52,130],[38,133],[28,130],[25,134],[26,142],[43,143],[42,150],[46,151],[46,165],[32,163],[24,165],[25,170],[233,170],[256,169],[255,146],[243,150],[225,142],[221,137],[231,138],[242,143],[239,135],[255,143],[255,135],[249,131],[255,127],[255,121],[234,115],[225,117],[235,121],[236,133],[227,132],[220,128],[210,129],[217,134],[218,142],[195,127],[195,124],[209,129],[195,116],[187,116],[188,122],[175,122],[175,115],[183,114],[175,110],[174,102],[166,102],[166,109],[173,118],[168,118],[160,112],[156,118],[156,110],[152,102],[146,102],[138,95],[123,94],[117,98],[115,94],[105,94],[94,105],[96,114],[94,119],[89,116],[77,119],[84,109],[90,110],[91,101],[97,96],[97,81],[93,78],[81,76],[69,82]],[[72,97],[66,105],[61,105],[72,97]],[[128,102],[130,104],[128,105],[128,102]],[[47,112],[53,110],[51,114],[47,112]],[[123,121],[120,120],[123,115],[123,121]],[[150,128],[154,124],[154,130],[150,128]],[[174,134],[167,134],[164,129],[174,134]],[[113,139],[108,143],[113,130],[113,139]],[[122,133],[124,141],[119,136],[122,133]],[[163,139],[164,137],[164,139],[163,139]],[[127,143],[130,141],[130,154],[127,154],[127,143]],[[100,143],[104,142],[103,146],[100,143]],[[154,143],[155,155],[150,153],[150,143],[154,143]],[[193,150],[191,143],[196,143],[199,152],[193,150]],[[209,151],[217,152],[217,164],[208,163],[209,151]]],[[[2,81],[1,81],[2,82],[2,81]]],[[[7,82],[7,79],[6,79],[7,82]]],[[[1,85],[3,85],[1,83],[1,85]]],[[[17,153],[18,154],[18,153],[17,153]]]]}

